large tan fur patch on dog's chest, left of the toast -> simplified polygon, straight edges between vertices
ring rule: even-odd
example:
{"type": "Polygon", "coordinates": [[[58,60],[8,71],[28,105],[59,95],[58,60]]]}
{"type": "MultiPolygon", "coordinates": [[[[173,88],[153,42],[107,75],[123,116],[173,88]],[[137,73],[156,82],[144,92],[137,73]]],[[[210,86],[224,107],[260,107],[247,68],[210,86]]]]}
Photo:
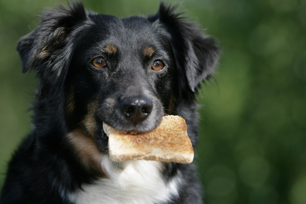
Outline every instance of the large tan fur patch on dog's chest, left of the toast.
{"type": "Polygon", "coordinates": [[[81,163],[89,170],[94,169],[102,178],[109,177],[102,168],[103,153],[99,151],[93,138],[87,137],[80,129],[68,133],[67,138],[75,148],[81,163]]]}

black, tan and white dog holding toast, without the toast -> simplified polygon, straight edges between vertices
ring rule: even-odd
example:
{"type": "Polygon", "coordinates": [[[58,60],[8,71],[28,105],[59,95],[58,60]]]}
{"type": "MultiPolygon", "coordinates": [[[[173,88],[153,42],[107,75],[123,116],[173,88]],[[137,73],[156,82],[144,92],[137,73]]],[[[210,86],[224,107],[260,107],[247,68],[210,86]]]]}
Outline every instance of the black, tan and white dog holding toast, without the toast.
{"type": "Polygon", "coordinates": [[[42,13],[17,45],[38,87],[0,204],[202,203],[192,163],[113,162],[102,128],[147,132],[179,115],[196,144],[195,96],[219,49],[176,8],[161,2],[155,15],[118,19],[72,1],[42,13]]]}

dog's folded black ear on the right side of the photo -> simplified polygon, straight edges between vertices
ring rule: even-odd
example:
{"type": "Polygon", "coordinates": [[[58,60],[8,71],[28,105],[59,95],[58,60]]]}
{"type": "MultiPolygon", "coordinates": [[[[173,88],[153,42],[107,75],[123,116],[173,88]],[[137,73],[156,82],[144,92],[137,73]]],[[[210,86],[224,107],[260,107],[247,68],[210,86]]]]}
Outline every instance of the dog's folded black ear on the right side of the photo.
{"type": "Polygon", "coordinates": [[[160,3],[151,22],[163,25],[168,33],[178,69],[181,91],[196,91],[196,87],[210,77],[219,55],[215,41],[202,34],[200,29],[175,13],[177,6],[166,7],[160,3]]]}

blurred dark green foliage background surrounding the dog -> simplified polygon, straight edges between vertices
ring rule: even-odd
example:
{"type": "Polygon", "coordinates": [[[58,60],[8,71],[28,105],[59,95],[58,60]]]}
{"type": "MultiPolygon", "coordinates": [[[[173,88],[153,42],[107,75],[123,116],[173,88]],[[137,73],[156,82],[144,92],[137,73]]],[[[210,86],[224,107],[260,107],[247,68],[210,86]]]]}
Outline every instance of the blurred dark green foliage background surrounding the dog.
{"type": "MultiPolygon", "coordinates": [[[[15,47],[42,8],[59,2],[0,0],[0,186],[31,129],[36,87],[33,74],[21,75],[15,47]]],[[[159,4],[83,2],[117,17],[155,13],[159,4]]],[[[179,10],[223,50],[215,81],[198,97],[195,163],[206,204],[306,204],[306,0],[184,0],[179,10]]]]}

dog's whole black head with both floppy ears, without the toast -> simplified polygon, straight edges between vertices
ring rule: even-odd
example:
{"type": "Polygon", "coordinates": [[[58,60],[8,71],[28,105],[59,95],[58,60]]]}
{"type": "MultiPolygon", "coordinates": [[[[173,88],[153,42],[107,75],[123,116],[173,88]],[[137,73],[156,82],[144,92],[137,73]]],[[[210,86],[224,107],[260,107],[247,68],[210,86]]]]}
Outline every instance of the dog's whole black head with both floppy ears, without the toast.
{"type": "Polygon", "coordinates": [[[148,18],[118,19],[74,2],[44,12],[17,47],[23,73],[39,79],[36,128],[78,128],[99,140],[102,122],[145,132],[177,115],[180,103],[193,104],[218,48],[174,10],[161,3],[148,18]]]}

